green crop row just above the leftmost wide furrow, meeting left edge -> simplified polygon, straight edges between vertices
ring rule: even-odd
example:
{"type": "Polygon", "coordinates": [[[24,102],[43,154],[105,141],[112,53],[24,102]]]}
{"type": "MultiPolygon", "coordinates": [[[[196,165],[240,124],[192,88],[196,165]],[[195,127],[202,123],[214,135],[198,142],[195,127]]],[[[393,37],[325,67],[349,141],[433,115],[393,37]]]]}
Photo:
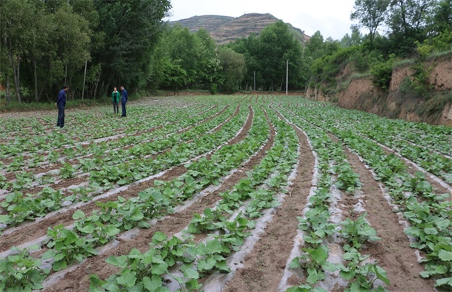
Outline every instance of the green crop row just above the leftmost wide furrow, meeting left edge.
{"type": "MultiPolygon", "coordinates": [[[[209,128],[211,129],[215,124],[218,124],[218,120],[213,120],[213,125],[209,123],[200,124],[197,127],[194,127],[191,132],[187,131],[179,134],[179,136],[170,136],[170,138],[168,138],[170,139],[170,143],[165,142],[165,140],[157,140],[154,143],[149,143],[147,144],[149,146],[147,148],[148,151],[161,152],[178,142],[192,140],[197,137],[192,143],[175,145],[169,152],[164,152],[159,156],[155,156],[154,159],[131,159],[129,156],[133,156],[131,154],[131,151],[133,150],[128,152],[128,156],[121,156],[122,159],[127,159],[128,162],[124,161],[127,163],[123,163],[121,157],[118,158],[120,161],[111,161],[110,156],[104,156],[105,159],[86,159],[88,163],[81,165],[81,169],[90,174],[90,186],[88,186],[88,191],[82,191],[81,189],[83,189],[83,187],[78,188],[77,193],[81,193],[83,195],[82,197],[79,197],[78,195],[63,197],[63,194],[59,190],[48,187],[44,188],[38,194],[25,196],[22,192],[16,190],[15,192],[6,195],[5,202],[2,202],[1,204],[8,213],[0,216],[0,223],[16,225],[24,220],[33,220],[36,217],[44,216],[50,211],[60,209],[67,201],[74,203],[79,200],[89,200],[90,197],[87,193],[89,193],[90,189],[99,192],[99,186],[103,186],[102,190],[107,190],[115,186],[113,183],[118,185],[130,184],[132,181],[138,181],[143,177],[155,175],[157,172],[178,165],[179,163],[187,161],[204,152],[208,152],[232,138],[234,133],[241,127],[241,124],[243,124],[244,117],[245,115],[243,114],[237,115],[234,120],[225,124],[220,131],[202,137],[199,137],[200,134],[205,133],[209,128]],[[89,167],[86,167],[86,165],[89,167]]],[[[125,152],[127,152],[127,150],[125,150],[125,152]]],[[[142,155],[145,154],[142,153],[142,155]]],[[[65,170],[64,166],[62,170],[65,170]]],[[[72,165],[70,170],[70,173],[74,171],[72,165]]]]}

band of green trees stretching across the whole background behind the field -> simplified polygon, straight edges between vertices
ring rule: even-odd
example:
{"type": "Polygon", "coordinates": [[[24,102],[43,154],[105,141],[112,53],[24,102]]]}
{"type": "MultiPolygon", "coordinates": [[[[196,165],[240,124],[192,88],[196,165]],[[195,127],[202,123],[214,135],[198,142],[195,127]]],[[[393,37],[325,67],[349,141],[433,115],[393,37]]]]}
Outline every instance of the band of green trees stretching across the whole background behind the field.
{"type": "Polygon", "coordinates": [[[355,0],[355,25],[341,40],[317,31],[301,44],[278,21],[217,46],[203,29],[163,22],[169,0],[2,0],[0,83],[19,102],[51,101],[63,83],[70,99],[102,97],[120,85],[129,92],[284,90],[288,64],[289,90],[332,87],[344,61],[380,76],[394,58],[451,50],[451,1],[355,0]]]}

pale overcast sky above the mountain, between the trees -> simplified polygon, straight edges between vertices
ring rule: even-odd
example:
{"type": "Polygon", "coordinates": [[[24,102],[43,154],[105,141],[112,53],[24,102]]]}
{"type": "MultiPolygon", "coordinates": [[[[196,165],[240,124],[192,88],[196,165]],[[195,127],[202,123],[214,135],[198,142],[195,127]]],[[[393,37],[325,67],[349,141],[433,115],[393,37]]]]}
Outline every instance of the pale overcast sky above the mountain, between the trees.
{"type": "Polygon", "coordinates": [[[320,31],[323,39],[350,35],[350,13],[355,0],[171,0],[175,21],[195,15],[240,17],[245,13],[270,13],[307,35],[320,31]]]}

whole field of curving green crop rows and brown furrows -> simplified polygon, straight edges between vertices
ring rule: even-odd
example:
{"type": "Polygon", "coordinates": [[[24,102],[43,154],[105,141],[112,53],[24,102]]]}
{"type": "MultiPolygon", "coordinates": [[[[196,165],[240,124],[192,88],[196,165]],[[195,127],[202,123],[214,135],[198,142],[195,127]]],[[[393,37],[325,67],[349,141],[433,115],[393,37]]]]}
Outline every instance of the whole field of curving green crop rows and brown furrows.
{"type": "Polygon", "coordinates": [[[0,291],[451,291],[451,127],[268,94],[127,111],[0,115],[0,291]]]}

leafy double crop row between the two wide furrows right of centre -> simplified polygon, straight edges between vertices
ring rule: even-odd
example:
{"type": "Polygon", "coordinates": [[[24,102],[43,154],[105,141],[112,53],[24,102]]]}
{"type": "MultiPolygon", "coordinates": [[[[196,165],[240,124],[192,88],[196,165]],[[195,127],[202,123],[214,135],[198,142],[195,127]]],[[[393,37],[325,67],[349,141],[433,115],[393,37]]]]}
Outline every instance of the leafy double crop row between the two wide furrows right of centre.
{"type": "Polygon", "coordinates": [[[334,143],[325,131],[283,111],[291,122],[305,131],[318,160],[317,186],[309,195],[304,216],[298,218],[304,244],[300,255],[289,264],[295,270],[302,269],[305,281],[287,291],[327,291],[334,285],[346,286],[345,291],[384,291],[382,284],[389,284],[385,270],[370,262],[369,256],[361,254],[363,243],[379,239],[375,229],[365,221],[365,213],[355,221],[347,218],[339,225],[331,218],[330,203],[337,200],[334,189],[355,193],[362,184],[359,175],[346,161],[341,145],[334,143]],[[342,251],[332,254],[329,246],[337,246],[332,243],[334,236],[342,238],[339,241],[342,251]],[[334,259],[341,253],[341,259],[334,259]],[[381,282],[376,282],[377,279],[381,282]]]}

